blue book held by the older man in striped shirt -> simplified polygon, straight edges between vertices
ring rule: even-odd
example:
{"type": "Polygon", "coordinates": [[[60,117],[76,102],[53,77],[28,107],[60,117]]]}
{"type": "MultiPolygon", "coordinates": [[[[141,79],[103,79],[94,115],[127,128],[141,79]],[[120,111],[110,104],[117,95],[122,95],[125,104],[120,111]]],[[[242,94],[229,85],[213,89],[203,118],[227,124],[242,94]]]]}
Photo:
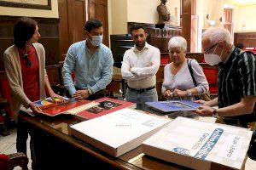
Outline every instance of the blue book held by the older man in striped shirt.
{"type": "Polygon", "coordinates": [[[167,113],[172,111],[196,111],[201,104],[189,100],[167,100],[146,102],[146,105],[156,111],[167,113]]]}

